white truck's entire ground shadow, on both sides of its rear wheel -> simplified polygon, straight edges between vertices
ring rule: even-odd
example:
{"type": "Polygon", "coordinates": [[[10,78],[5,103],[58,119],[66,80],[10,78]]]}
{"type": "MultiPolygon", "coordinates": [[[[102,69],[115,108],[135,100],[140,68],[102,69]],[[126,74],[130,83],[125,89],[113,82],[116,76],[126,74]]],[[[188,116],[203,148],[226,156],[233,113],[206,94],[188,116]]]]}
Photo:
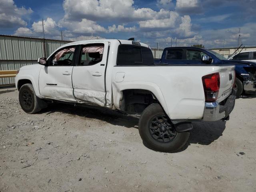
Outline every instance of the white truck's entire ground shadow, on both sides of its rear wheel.
{"type": "MultiPolygon", "coordinates": [[[[74,107],[70,104],[56,103],[43,109],[39,113],[51,114],[54,112],[66,113],[70,117],[80,116],[82,118],[98,119],[112,125],[124,126],[126,128],[138,128],[138,118],[127,116],[115,110],[97,108],[93,106],[74,107]]],[[[194,122],[193,126],[194,128],[190,131],[190,138],[188,139],[187,144],[178,152],[186,150],[190,144],[211,144],[222,136],[222,133],[226,128],[226,122],[194,122]]]]}

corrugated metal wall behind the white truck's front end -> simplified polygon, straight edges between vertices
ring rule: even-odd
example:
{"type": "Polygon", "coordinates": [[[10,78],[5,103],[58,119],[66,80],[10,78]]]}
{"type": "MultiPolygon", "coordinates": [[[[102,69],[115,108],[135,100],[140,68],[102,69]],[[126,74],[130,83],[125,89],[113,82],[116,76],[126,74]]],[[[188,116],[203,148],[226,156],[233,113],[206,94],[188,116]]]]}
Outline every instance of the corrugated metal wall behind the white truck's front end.
{"type": "MultiPolygon", "coordinates": [[[[43,39],[0,35],[0,70],[18,70],[44,56],[43,39]]],[[[45,40],[46,57],[69,41],[45,40]]],[[[0,86],[14,84],[14,77],[0,78],[0,86]]]]}

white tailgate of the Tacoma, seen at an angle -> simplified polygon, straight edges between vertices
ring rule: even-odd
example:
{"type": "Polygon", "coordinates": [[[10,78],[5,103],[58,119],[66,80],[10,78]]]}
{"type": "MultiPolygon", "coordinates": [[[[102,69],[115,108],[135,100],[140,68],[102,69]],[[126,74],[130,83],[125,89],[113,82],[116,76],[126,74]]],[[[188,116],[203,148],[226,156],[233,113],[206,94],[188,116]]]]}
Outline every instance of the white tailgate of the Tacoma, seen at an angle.
{"type": "Polygon", "coordinates": [[[218,102],[226,99],[232,92],[235,81],[235,66],[220,66],[220,90],[218,94],[218,102]]]}

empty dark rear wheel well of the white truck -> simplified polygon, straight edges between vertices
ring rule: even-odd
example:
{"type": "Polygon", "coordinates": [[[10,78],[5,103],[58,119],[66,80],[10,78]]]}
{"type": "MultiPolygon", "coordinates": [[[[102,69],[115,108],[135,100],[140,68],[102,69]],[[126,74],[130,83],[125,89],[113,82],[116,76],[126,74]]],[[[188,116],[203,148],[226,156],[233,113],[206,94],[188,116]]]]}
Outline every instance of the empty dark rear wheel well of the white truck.
{"type": "Polygon", "coordinates": [[[152,92],[143,89],[128,89],[122,91],[120,109],[129,114],[141,114],[150,104],[158,100],[152,92]]]}

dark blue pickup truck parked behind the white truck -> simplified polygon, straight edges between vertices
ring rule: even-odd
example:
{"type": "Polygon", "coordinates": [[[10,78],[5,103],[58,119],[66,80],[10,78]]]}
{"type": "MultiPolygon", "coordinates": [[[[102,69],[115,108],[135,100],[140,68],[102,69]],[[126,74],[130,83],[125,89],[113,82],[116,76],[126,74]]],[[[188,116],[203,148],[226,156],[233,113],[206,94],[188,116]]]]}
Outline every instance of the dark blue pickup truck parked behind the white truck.
{"type": "Polygon", "coordinates": [[[168,47],[164,49],[161,59],[155,64],[174,65],[235,65],[236,81],[234,89],[237,97],[243,92],[256,92],[256,63],[248,61],[227,60],[224,56],[204,48],[168,47]]]}

